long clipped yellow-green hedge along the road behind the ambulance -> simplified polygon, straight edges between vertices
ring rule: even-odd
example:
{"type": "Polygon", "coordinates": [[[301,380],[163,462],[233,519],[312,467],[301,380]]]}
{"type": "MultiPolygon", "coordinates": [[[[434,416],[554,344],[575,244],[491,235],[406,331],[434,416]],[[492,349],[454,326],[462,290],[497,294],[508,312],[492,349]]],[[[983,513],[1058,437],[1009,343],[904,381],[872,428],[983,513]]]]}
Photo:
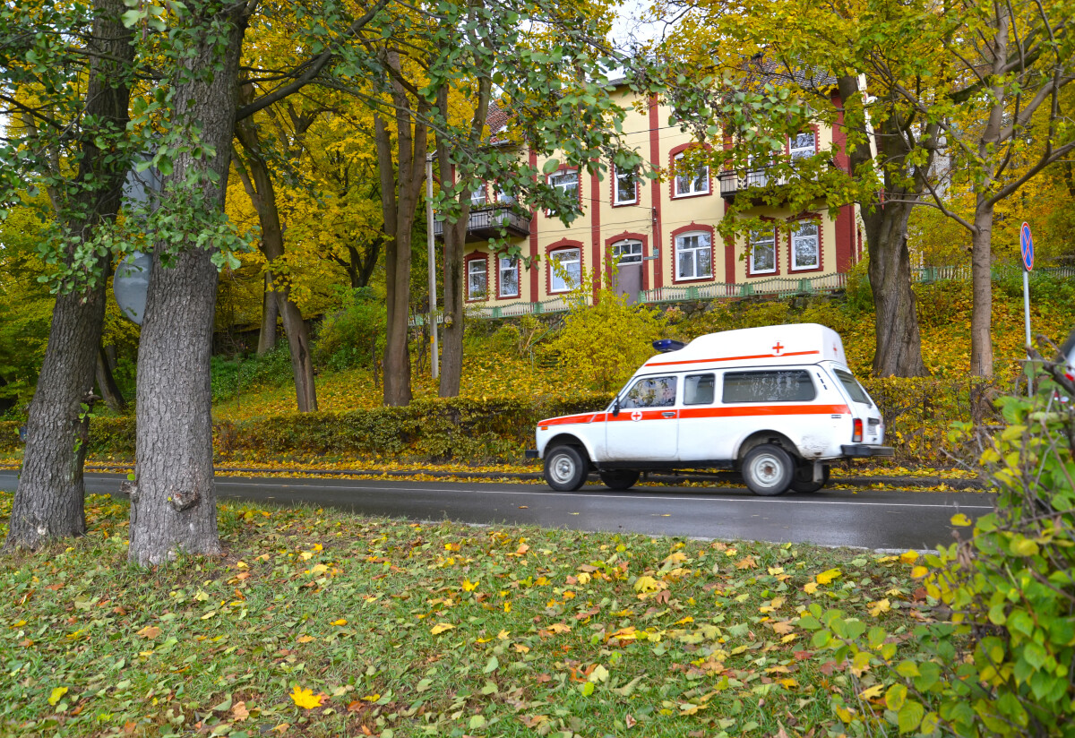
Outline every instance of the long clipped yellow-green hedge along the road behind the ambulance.
{"type": "MultiPolygon", "coordinates": [[[[993,413],[999,393],[990,380],[962,378],[870,378],[862,382],[885,417],[886,443],[897,461],[915,465],[950,463],[948,425],[981,421],[993,413]]],[[[539,397],[417,400],[406,407],[347,413],[309,413],[214,423],[218,461],[383,458],[408,462],[513,462],[533,446],[542,418],[605,407],[608,394],[539,397]]],[[[18,447],[18,426],[0,422],[0,450],[18,447]]],[[[90,424],[90,454],[131,458],[134,419],[97,418],[90,424]]]]}

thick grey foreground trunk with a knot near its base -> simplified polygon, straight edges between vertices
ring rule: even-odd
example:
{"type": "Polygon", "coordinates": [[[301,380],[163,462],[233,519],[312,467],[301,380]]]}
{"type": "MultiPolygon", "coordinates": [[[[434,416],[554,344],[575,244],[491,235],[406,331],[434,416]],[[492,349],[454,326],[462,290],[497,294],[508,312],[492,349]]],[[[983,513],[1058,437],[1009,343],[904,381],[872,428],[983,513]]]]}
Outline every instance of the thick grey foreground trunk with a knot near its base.
{"type": "MultiPolygon", "coordinates": [[[[200,130],[201,158],[175,157],[166,191],[191,175],[209,208],[224,208],[238,102],[246,5],[188,2],[194,43],[174,86],[176,130],[200,130]],[[212,147],[212,148],[210,148],[212,147]]],[[[217,269],[210,249],[187,247],[164,269],[158,240],[139,346],[138,443],[129,556],[159,564],[178,553],[220,552],[213,480],[210,356],[217,269]]]]}

